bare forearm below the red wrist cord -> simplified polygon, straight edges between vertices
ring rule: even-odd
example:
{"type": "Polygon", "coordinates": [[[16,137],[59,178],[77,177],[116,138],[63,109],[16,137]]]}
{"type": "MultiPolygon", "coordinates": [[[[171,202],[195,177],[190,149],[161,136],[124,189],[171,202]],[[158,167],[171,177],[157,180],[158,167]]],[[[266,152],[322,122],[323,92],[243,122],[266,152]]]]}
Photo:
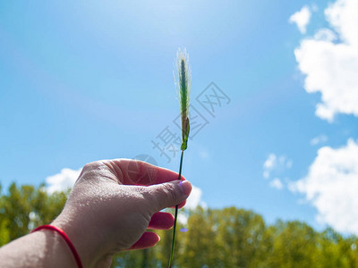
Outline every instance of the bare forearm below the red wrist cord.
{"type": "Polygon", "coordinates": [[[77,267],[64,239],[51,230],[38,230],[1,247],[0,266],[77,267]]]}

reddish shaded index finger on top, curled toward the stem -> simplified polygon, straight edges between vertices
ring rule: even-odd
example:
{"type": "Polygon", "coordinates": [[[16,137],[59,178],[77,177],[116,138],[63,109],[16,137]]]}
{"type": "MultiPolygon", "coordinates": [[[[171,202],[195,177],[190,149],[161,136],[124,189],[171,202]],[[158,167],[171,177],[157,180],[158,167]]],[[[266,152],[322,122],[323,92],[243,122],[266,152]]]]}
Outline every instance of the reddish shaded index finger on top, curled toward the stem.
{"type": "MultiPolygon", "coordinates": [[[[119,182],[124,185],[142,185],[164,183],[178,180],[179,174],[156,165],[132,159],[115,159],[110,161],[119,182]]],[[[181,180],[185,180],[183,175],[181,180]]]]}

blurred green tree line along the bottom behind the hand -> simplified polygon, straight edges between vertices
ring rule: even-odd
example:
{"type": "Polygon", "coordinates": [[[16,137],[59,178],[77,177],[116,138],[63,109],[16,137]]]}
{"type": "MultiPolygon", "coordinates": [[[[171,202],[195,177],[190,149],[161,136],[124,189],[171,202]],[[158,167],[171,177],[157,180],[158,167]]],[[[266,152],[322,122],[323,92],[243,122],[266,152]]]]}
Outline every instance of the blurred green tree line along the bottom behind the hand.
{"type": "MultiPolygon", "coordinates": [[[[55,219],[68,192],[48,194],[43,185],[0,188],[0,246],[55,219]]],[[[185,211],[179,223],[174,267],[357,267],[358,238],[304,222],[267,224],[260,214],[237,207],[185,211]],[[183,230],[183,231],[180,231],[183,230]]],[[[166,267],[172,230],[158,230],[156,247],[115,255],[111,267],[166,267]]]]}

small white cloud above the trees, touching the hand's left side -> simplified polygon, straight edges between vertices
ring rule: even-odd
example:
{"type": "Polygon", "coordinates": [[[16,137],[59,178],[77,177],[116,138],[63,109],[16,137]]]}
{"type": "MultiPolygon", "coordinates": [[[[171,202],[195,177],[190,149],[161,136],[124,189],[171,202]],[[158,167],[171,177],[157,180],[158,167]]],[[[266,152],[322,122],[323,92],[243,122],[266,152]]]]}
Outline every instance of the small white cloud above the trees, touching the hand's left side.
{"type": "Polygon", "coordinates": [[[65,191],[68,188],[72,188],[80,173],[81,169],[74,171],[64,168],[60,173],[47,177],[47,191],[52,194],[55,191],[65,191]]]}

